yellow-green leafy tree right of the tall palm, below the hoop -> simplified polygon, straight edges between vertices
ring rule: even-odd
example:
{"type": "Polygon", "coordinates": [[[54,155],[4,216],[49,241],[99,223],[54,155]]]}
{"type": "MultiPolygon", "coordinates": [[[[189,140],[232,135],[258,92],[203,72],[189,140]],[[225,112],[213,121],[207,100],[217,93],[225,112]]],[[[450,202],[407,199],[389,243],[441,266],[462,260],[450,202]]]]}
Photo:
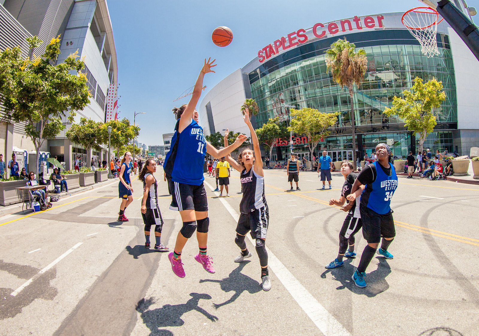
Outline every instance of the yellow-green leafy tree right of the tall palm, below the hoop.
{"type": "Polygon", "coordinates": [[[438,108],[446,99],[441,81],[432,79],[426,83],[416,77],[411,91],[402,92],[404,98],[394,97],[392,107],[387,107],[384,114],[387,116],[398,115],[404,120],[404,127],[409,131],[419,133],[419,151],[422,152],[422,145],[428,134],[436,126],[434,108],[438,108]]]}

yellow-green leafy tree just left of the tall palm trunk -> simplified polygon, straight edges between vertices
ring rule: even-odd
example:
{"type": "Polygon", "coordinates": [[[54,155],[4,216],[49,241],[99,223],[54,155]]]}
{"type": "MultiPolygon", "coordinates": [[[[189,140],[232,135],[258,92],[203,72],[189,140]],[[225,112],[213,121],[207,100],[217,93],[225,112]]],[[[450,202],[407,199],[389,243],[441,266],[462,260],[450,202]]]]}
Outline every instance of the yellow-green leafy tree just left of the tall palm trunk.
{"type": "Polygon", "coordinates": [[[327,130],[338,120],[339,113],[322,113],[314,108],[305,107],[300,110],[291,109],[291,127],[289,131],[308,137],[308,148],[313,157],[313,151],[321,138],[327,137],[327,130]]]}

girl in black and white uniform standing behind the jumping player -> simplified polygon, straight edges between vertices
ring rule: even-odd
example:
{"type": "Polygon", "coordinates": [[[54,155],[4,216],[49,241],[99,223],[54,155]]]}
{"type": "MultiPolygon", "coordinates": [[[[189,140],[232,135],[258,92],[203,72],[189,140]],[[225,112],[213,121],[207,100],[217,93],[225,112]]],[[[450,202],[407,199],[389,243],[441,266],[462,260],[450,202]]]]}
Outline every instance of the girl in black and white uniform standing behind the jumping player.
{"type": "Polygon", "coordinates": [[[143,200],[141,202],[141,217],[145,223],[145,248],[150,247],[150,229],[155,225],[155,250],[168,251],[169,248],[161,243],[161,229],[163,219],[158,207],[158,182],[153,173],[156,173],[156,162],[148,159],[143,166],[138,179],[143,181],[143,200]]]}

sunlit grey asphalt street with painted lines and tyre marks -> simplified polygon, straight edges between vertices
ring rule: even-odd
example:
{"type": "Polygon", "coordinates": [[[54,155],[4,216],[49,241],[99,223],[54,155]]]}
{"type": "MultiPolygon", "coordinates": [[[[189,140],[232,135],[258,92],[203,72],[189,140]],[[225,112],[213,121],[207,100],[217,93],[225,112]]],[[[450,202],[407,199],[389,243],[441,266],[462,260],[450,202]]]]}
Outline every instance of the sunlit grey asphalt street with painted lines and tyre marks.
{"type": "MultiPolygon", "coordinates": [[[[159,167],[162,243],[172,250],[182,221],[168,209],[162,176],[159,167]]],[[[366,244],[361,231],[358,257],[324,268],[345,217],[328,204],[342,175],[333,173],[332,190],[320,190],[316,173],[299,178],[301,191],[290,191],[285,171],[265,171],[268,292],[251,240],[253,256],[233,262],[236,172],[230,197],[205,177],[215,274],[194,260],[195,236],[182,252],[185,278],[172,273],[167,253],[145,249],[136,177],[128,222],[116,221],[118,180],[47,211],[1,217],[0,335],[479,335],[479,186],[399,176],[394,259],[376,255],[360,289],[351,275],[366,244]]]]}

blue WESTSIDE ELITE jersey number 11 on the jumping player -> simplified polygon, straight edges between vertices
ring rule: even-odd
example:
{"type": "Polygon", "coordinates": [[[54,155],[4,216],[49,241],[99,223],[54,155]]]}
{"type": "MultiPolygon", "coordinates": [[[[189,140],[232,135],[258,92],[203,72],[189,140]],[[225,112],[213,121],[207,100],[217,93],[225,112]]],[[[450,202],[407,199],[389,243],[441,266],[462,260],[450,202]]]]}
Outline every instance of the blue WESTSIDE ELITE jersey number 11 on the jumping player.
{"type": "Polygon", "coordinates": [[[171,138],[171,150],[165,158],[165,172],[173,182],[201,185],[205,180],[203,164],[206,155],[203,128],[194,120],[181,133],[178,127],[179,121],[171,138]]]}

